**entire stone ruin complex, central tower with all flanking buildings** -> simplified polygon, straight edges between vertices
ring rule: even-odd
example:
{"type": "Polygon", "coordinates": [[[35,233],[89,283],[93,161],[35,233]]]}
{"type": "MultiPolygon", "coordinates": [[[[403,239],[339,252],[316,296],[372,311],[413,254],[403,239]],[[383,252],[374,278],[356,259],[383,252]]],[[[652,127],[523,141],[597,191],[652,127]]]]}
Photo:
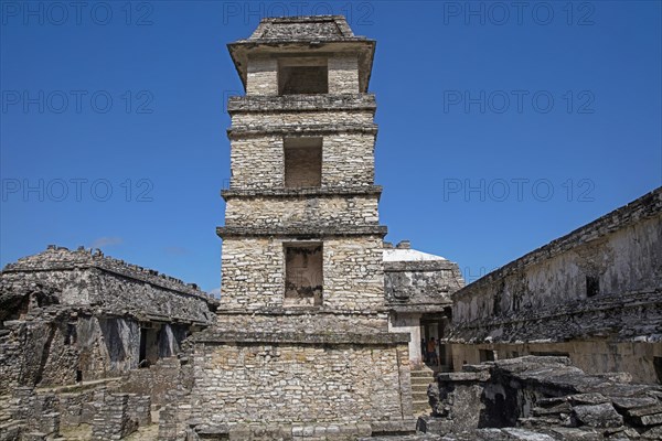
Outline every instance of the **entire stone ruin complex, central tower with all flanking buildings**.
{"type": "Polygon", "coordinates": [[[98,250],[7,266],[0,441],[662,439],[662,189],[465,287],[383,241],[375,42],[301,17],[228,49],[221,300],[98,250]]]}

